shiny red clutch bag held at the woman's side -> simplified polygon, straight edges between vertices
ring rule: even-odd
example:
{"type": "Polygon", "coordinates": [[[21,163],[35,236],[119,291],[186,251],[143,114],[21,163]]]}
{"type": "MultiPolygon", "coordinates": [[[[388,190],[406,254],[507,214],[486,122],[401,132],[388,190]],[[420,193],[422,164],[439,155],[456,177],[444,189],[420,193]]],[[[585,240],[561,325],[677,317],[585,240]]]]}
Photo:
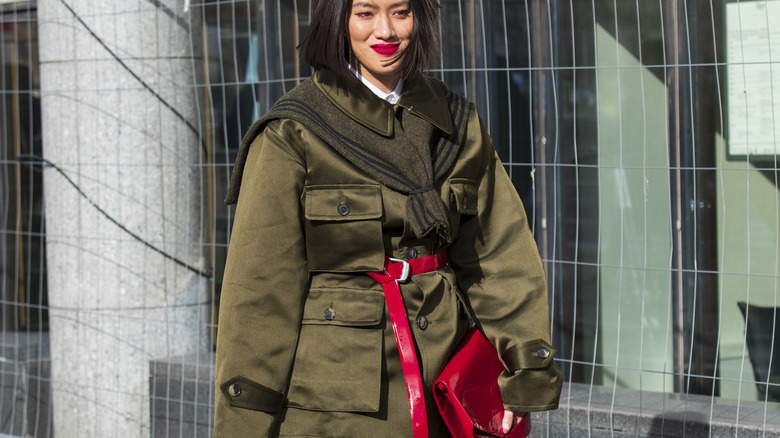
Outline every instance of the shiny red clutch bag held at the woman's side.
{"type": "Polygon", "coordinates": [[[528,414],[508,434],[501,432],[504,404],[498,376],[504,365],[496,348],[472,328],[433,384],[433,397],[455,438],[525,438],[531,433],[528,414]]]}

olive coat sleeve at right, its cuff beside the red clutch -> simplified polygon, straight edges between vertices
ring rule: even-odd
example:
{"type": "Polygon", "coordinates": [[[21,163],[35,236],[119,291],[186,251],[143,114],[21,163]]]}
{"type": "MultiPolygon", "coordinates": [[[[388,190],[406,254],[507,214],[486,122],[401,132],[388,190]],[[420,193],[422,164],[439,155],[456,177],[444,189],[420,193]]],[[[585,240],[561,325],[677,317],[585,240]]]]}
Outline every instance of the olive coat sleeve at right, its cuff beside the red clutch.
{"type": "Polygon", "coordinates": [[[472,110],[464,151],[481,153],[477,211],[462,221],[449,250],[458,285],[506,370],[506,409],[556,409],[562,375],[553,362],[547,284],[522,202],[472,110]]]}

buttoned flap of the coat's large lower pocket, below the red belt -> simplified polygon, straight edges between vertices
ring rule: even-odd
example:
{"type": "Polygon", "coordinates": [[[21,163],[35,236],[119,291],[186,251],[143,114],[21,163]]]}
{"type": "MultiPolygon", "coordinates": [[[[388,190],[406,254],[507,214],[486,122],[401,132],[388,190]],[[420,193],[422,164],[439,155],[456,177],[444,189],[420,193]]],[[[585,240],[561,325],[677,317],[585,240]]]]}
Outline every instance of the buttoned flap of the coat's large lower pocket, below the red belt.
{"type": "Polygon", "coordinates": [[[312,290],[303,309],[304,324],[372,326],[382,321],[385,297],[380,292],[312,290]]]}

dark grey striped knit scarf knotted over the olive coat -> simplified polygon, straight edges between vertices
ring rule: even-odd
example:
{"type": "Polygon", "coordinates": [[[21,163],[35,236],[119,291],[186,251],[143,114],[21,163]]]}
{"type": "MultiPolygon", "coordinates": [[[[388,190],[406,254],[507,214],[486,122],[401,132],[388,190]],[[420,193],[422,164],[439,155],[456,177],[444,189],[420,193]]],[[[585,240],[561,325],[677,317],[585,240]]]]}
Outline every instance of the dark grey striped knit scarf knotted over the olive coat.
{"type": "Polygon", "coordinates": [[[452,242],[452,233],[447,209],[433,185],[455,161],[468,115],[465,98],[449,89],[446,97],[452,117],[451,135],[399,108],[393,135],[385,137],[351,117],[345,117],[308,79],[284,95],[268,114],[249,128],[239,146],[225,203],[233,204],[238,200],[244,163],[255,137],[271,120],[292,119],[372,178],[408,195],[406,217],[411,230],[419,239],[432,239],[434,250],[442,249],[452,242]]]}

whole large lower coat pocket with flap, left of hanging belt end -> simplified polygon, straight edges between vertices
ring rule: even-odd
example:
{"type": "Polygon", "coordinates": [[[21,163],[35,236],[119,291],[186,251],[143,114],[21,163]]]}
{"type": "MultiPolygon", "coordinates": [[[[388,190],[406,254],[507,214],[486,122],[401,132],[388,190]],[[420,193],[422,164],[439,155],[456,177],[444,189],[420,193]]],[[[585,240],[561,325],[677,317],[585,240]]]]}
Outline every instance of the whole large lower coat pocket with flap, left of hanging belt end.
{"type": "Polygon", "coordinates": [[[289,406],[377,412],[382,380],[381,292],[314,289],[290,381],[289,406]]]}

